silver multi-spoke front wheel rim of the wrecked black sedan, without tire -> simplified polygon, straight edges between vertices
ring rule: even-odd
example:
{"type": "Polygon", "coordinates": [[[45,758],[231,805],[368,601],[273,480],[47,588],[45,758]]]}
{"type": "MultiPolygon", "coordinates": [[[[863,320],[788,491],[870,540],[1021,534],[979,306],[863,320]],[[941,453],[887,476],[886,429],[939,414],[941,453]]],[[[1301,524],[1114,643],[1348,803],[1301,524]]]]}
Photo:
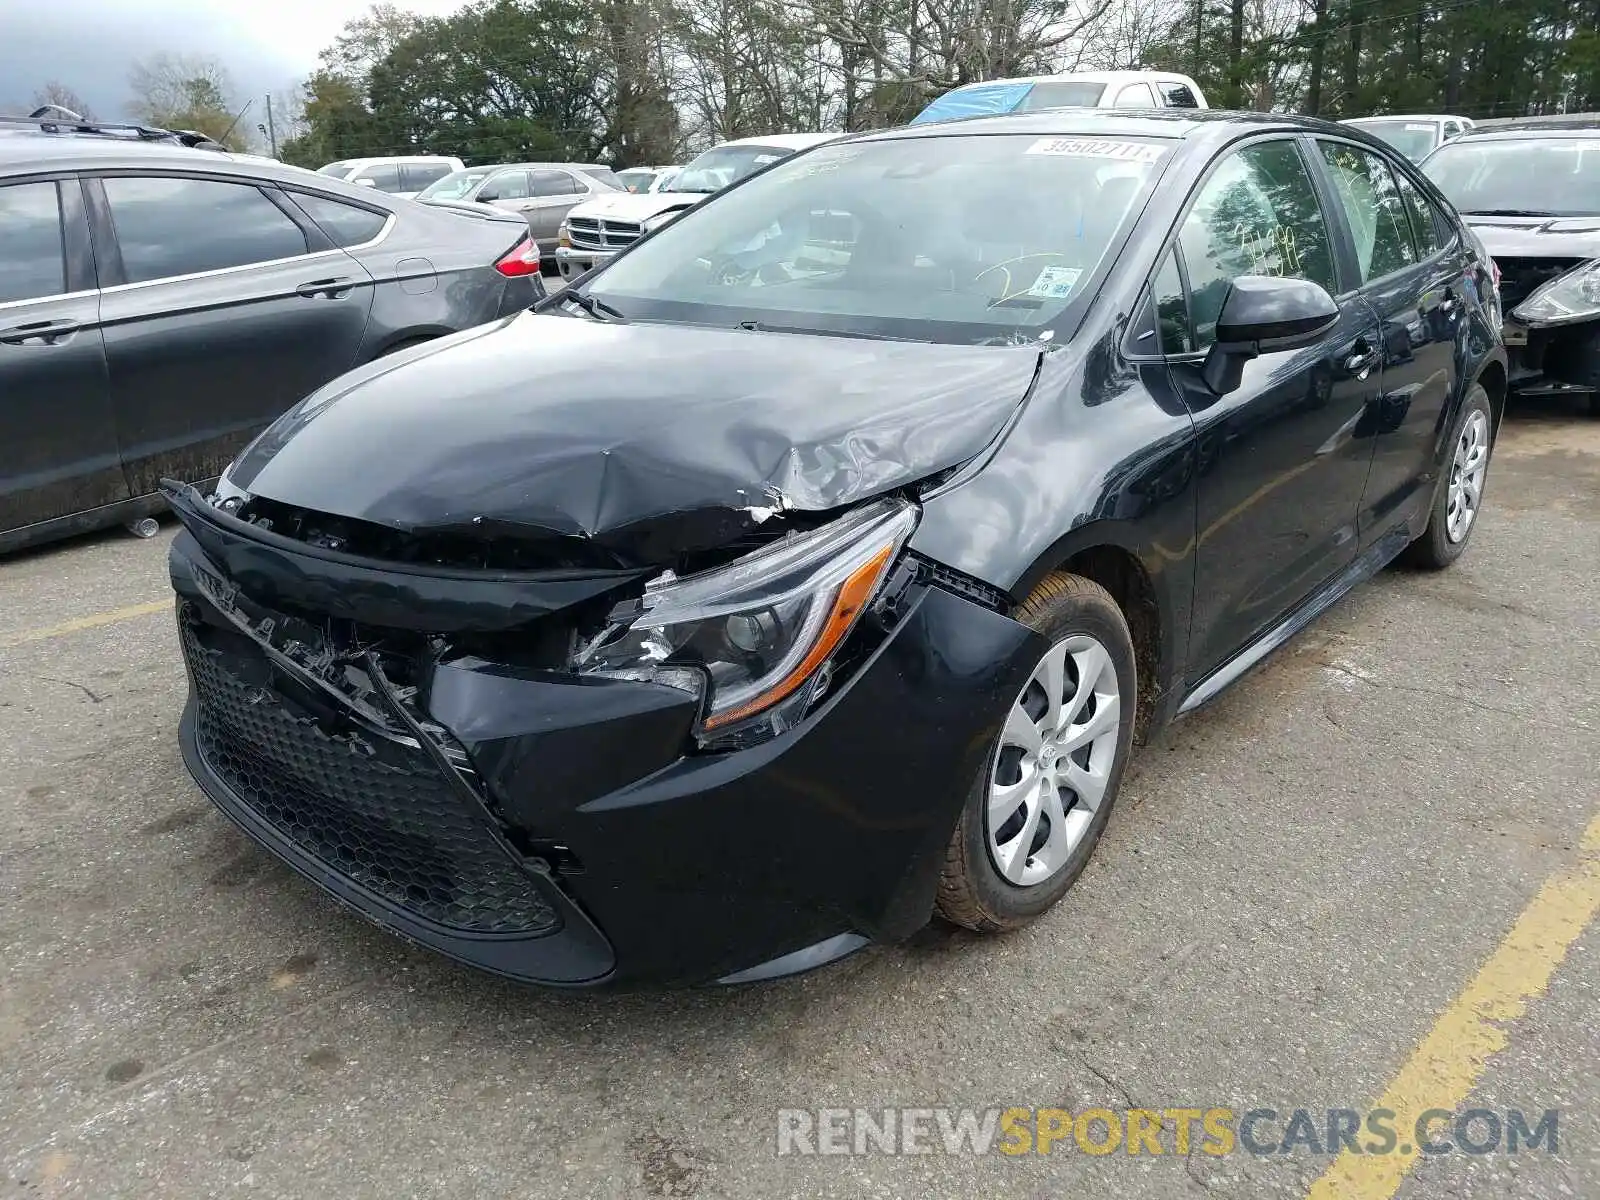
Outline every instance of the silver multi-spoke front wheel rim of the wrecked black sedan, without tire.
{"type": "Polygon", "coordinates": [[[1099,642],[1051,646],[1006,712],[989,776],[984,832],[995,869],[1019,888],[1066,866],[1106,798],[1122,696],[1099,642]]]}

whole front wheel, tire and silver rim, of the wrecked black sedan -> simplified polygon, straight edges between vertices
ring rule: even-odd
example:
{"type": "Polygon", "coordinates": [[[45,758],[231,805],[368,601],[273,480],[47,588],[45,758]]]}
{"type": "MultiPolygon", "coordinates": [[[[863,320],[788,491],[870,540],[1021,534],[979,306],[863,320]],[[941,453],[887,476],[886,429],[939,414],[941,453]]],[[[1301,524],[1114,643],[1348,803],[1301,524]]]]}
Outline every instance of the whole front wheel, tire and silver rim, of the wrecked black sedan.
{"type": "Polygon", "coordinates": [[[1117,602],[1051,574],[1018,619],[1050,640],[1006,709],[946,850],[939,914],[970,930],[1027,925],[1083,872],[1133,744],[1138,672],[1117,602]]]}

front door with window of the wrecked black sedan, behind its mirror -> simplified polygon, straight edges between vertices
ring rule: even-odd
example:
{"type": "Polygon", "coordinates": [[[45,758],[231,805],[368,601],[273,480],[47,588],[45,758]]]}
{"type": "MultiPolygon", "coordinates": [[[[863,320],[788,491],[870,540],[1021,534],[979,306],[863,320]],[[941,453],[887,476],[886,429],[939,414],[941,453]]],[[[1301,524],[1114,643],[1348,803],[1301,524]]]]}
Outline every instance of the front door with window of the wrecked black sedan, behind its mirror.
{"type": "MultiPolygon", "coordinates": [[[[1187,306],[1158,290],[1173,382],[1195,419],[1198,534],[1189,682],[1227,662],[1349,566],[1371,442],[1355,430],[1378,394],[1378,322],[1347,286],[1306,150],[1270,138],[1229,150],[1179,226],[1187,306]],[[1320,283],[1339,322],[1317,346],[1262,354],[1218,397],[1200,379],[1240,275],[1320,283]],[[1178,323],[1181,322],[1181,323],[1178,323]],[[1178,325],[1174,325],[1178,323],[1178,325]]],[[[1158,280],[1162,275],[1158,275],[1158,280]]]]}

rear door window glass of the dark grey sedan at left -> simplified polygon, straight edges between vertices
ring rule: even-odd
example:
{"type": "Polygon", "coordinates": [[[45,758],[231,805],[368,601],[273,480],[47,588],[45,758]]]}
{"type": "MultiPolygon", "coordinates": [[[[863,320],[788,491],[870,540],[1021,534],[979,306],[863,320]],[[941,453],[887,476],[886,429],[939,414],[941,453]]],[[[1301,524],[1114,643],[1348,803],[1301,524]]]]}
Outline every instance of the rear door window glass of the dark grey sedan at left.
{"type": "Polygon", "coordinates": [[[102,181],[130,283],[306,253],[306,235],[251,184],[173,176],[102,181]]]}

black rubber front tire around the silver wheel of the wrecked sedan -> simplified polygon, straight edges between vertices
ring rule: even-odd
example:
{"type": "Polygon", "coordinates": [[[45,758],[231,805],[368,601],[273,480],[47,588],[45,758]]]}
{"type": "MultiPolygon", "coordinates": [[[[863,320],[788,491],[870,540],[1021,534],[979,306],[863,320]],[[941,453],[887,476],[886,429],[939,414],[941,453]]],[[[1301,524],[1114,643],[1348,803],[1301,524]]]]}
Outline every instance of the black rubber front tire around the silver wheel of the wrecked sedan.
{"type": "Polygon", "coordinates": [[[1051,645],[1074,634],[1088,634],[1106,648],[1117,672],[1120,696],[1117,757],[1107,774],[1101,805],[1067,861],[1050,878],[1032,886],[1018,886],[1006,880],[995,866],[989,853],[989,834],[984,827],[989,781],[995,768],[995,755],[1000,750],[1000,741],[995,739],[984,760],[984,770],[973,781],[966,803],[962,806],[962,816],[955,822],[955,830],[946,848],[938,896],[941,917],[981,933],[998,933],[1027,925],[1059,901],[1083,874],[1117,802],[1117,790],[1122,787],[1123,768],[1128,765],[1128,752],[1133,746],[1133,723],[1138,712],[1138,669],[1133,637],[1128,634],[1128,622],[1110,592],[1077,574],[1050,574],[1022,602],[1018,619],[1050,638],[1051,645]]]}

